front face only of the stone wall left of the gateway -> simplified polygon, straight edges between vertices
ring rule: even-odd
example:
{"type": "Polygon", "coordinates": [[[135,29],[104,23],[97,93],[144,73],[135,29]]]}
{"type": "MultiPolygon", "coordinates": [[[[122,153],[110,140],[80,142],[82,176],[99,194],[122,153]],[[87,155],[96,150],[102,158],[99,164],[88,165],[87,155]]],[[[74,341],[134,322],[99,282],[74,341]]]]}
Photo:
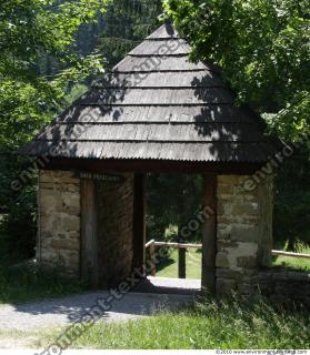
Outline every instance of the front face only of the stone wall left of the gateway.
{"type": "Polygon", "coordinates": [[[80,270],[80,181],[71,172],[40,171],[37,258],[78,276],[80,270]]]}

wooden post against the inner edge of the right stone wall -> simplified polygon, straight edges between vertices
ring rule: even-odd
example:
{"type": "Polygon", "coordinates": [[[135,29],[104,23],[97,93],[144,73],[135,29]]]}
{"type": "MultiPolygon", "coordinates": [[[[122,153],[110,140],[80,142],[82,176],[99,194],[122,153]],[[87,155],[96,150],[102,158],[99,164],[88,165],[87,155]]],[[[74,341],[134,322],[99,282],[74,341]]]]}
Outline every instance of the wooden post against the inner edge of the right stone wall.
{"type": "MultiPolygon", "coordinates": [[[[211,209],[202,226],[202,291],[216,293],[216,253],[217,253],[217,175],[203,176],[203,205],[211,209]]],[[[209,210],[208,209],[208,210],[209,210]]]]}

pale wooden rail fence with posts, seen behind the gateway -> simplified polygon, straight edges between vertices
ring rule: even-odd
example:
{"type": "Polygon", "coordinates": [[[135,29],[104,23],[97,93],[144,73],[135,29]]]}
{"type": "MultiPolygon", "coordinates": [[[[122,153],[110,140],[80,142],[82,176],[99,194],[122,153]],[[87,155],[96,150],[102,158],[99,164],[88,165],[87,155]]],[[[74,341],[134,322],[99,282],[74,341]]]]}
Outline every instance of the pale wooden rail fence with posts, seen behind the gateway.
{"type": "MultiPolygon", "coordinates": [[[[146,250],[150,248],[150,264],[151,264],[151,276],[157,274],[157,262],[156,262],[156,248],[157,247],[173,247],[179,250],[179,278],[187,277],[187,250],[188,248],[202,248],[202,244],[183,244],[183,243],[169,243],[169,242],[156,242],[151,240],[146,244],[146,250]]],[[[291,253],[282,251],[272,251],[273,256],[288,256],[288,257],[299,257],[299,258],[310,258],[310,254],[291,253]]]]}

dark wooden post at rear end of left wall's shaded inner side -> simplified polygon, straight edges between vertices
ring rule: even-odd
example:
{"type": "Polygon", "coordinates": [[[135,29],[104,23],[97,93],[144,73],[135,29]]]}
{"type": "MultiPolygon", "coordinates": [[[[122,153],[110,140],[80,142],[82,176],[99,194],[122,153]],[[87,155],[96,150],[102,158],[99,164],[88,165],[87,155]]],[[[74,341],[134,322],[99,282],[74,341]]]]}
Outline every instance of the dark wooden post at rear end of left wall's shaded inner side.
{"type": "Polygon", "coordinates": [[[132,268],[146,272],[146,175],[134,174],[133,181],[133,261],[132,268]]]}

